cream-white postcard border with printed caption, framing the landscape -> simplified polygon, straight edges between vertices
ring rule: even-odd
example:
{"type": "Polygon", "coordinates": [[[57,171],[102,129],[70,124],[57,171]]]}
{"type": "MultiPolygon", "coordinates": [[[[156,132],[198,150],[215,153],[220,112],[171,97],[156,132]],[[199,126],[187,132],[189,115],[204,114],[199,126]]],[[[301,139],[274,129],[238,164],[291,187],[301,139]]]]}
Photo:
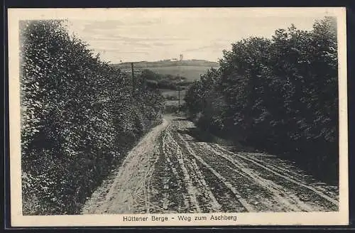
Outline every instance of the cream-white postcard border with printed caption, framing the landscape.
{"type": "MultiPolygon", "coordinates": [[[[217,9],[172,9],[178,13],[194,11],[203,15],[217,9]]],[[[337,16],[339,57],[339,212],[256,212],[256,213],[213,213],[182,214],[191,221],[179,221],[178,214],[169,215],[52,215],[23,216],[21,198],[21,126],[19,87],[19,31],[21,19],[48,18],[93,18],[99,20],[114,18],[115,14],[150,11],[157,16],[166,13],[162,9],[9,9],[9,136],[10,136],[10,179],[11,179],[11,225],[13,227],[77,227],[77,226],[199,226],[199,225],[344,225],[349,224],[348,196],[348,138],[347,138],[347,87],[346,87],[346,10],[345,8],[219,8],[226,15],[238,11],[247,16],[295,16],[310,13],[329,13],[337,16]],[[236,216],[234,220],[210,220],[211,216],[236,216]],[[147,221],[124,221],[124,217],[148,217],[147,221]],[[152,221],[152,216],[168,217],[168,221],[152,221]],[[206,221],[195,221],[195,217],[207,217],[206,221]],[[172,219],[174,218],[174,220],[172,219]]],[[[181,215],[181,216],[182,216],[181,215]]]]}

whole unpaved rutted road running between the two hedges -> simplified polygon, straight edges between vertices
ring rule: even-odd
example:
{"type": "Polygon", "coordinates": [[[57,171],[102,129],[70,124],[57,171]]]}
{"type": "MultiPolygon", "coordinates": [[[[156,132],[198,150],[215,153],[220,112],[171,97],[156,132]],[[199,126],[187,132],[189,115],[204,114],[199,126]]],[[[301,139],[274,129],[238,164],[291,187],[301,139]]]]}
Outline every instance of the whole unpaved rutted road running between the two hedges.
{"type": "Polygon", "coordinates": [[[165,116],[87,201],[82,214],[337,211],[338,189],[289,161],[197,140],[165,116]]]}

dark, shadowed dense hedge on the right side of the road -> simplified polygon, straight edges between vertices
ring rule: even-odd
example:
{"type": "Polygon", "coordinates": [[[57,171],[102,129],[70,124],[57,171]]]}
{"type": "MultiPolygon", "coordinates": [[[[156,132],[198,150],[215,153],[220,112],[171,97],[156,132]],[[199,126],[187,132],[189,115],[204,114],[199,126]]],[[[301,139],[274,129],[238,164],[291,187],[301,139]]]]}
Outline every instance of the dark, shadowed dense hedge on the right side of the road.
{"type": "Polygon", "coordinates": [[[338,172],[338,61],[334,18],[312,31],[278,29],[224,51],[186,94],[200,126],[291,156],[325,178],[338,172]]]}

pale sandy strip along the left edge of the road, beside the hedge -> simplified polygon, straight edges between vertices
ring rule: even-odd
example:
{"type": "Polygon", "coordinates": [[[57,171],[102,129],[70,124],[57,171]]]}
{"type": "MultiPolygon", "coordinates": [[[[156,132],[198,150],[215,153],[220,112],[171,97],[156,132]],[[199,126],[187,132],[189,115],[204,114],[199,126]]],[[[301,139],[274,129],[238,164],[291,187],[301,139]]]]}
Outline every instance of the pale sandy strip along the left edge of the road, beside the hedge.
{"type": "Polygon", "coordinates": [[[162,124],[141,139],[129,152],[114,179],[106,180],[85,203],[82,214],[136,213],[149,208],[146,206],[149,193],[146,187],[158,159],[155,140],[169,121],[169,118],[163,119],[162,124]]]}

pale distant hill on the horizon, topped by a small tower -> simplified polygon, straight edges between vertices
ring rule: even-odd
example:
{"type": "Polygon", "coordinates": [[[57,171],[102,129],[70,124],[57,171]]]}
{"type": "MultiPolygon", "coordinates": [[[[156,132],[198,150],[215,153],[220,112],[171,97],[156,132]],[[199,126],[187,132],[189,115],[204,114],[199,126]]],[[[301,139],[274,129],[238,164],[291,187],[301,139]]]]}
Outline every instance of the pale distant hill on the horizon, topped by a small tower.
{"type": "MultiPolygon", "coordinates": [[[[161,75],[173,75],[186,77],[187,80],[197,80],[211,67],[218,68],[219,63],[207,60],[161,60],[156,62],[136,62],[133,64],[134,70],[148,69],[161,75]]],[[[121,69],[124,72],[131,72],[131,63],[112,64],[112,66],[121,69]]]]}

